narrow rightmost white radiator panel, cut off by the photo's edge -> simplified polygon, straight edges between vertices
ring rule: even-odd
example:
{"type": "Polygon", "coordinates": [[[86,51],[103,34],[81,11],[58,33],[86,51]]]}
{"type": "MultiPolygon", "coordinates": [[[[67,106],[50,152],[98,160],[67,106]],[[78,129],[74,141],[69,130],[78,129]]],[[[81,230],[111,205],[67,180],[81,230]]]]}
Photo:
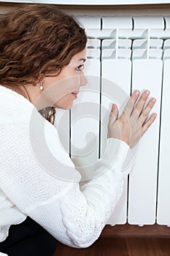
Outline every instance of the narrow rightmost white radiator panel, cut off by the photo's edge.
{"type": "Polygon", "coordinates": [[[158,175],[158,215],[157,223],[170,225],[170,173],[169,173],[169,152],[170,152],[170,59],[166,59],[163,68],[163,97],[161,110],[161,138],[160,138],[160,161],[158,175]]]}

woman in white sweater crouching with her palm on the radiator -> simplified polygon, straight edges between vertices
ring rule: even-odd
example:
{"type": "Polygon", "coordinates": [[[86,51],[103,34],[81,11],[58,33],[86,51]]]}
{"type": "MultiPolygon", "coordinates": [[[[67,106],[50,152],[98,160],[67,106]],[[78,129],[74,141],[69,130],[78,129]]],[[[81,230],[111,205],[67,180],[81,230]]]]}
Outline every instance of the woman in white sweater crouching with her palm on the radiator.
{"type": "Polygon", "coordinates": [[[155,120],[155,113],[147,118],[155,99],[144,107],[150,92],[139,97],[134,91],[119,118],[112,105],[107,149],[96,162],[100,175],[80,187],[81,176],[53,124],[55,108],[72,108],[80,86],[87,84],[85,31],[69,15],[43,4],[4,15],[0,27],[0,255],[50,256],[57,240],[90,246],[122,193],[129,148],[155,120]],[[43,125],[53,156],[37,132],[43,125]]]}

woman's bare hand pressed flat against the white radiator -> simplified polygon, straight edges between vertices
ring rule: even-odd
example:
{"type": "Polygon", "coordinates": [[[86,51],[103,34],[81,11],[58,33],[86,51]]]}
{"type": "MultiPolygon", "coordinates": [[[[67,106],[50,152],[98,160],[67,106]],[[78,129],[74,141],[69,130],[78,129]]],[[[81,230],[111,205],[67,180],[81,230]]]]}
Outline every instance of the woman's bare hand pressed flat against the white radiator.
{"type": "Polygon", "coordinates": [[[115,104],[112,105],[112,110],[109,115],[107,138],[123,140],[131,148],[136,145],[157,116],[156,113],[152,113],[150,118],[148,118],[150,110],[152,110],[155,104],[155,98],[151,98],[144,107],[150,91],[144,91],[141,97],[139,97],[139,94],[140,92],[138,90],[134,91],[119,118],[117,105],[115,104]],[[139,101],[135,105],[138,98],[139,101]]]}

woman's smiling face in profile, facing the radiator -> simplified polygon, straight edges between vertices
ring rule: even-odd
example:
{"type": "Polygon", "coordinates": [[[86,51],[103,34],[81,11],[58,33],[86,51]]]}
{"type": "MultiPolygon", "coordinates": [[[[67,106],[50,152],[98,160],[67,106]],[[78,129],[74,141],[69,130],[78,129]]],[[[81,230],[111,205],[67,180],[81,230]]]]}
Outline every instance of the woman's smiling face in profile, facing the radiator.
{"type": "MultiPolygon", "coordinates": [[[[85,62],[86,49],[80,53],[75,54],[70,63],[61,69],[59,75],[55,77],[46,77],[45,86],[50,87],[55,84],[55,104],[53,107],[69,109],[72,108],[73,101],[78,97],[80,86],[84,86],[88,83],[85,75],[82,71],[85,62]],[[57,101],[56,101],[57,98],[57,101]]],[[[53,97],[51,94],[50,97],[53,97]]]]}

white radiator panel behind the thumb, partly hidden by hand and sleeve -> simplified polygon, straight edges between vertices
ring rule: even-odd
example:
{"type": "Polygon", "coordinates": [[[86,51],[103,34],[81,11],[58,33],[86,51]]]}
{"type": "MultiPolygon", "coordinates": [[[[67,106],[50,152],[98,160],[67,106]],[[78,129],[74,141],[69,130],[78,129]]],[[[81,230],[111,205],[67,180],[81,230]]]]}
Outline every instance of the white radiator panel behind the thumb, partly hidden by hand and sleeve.
{"type": "MultiPolygon", "coordinates": [[[[131,92],[131,61],[128,59],[103,59],[101,67],[101,106],[103,107],[101,108],[101,120],[105,124],[101,127],[102,156],[106,148],[107,138],[107,129],[104,129],[104,127],[107,127],[108,124],[111,105],[114,102],[120,108],[131,92]]],[[[109,218],[109,224],[125,224],[127,221],[127,192],[128,179],[124,184],[123,195],[109,218]]]]}

